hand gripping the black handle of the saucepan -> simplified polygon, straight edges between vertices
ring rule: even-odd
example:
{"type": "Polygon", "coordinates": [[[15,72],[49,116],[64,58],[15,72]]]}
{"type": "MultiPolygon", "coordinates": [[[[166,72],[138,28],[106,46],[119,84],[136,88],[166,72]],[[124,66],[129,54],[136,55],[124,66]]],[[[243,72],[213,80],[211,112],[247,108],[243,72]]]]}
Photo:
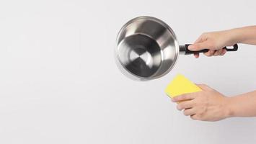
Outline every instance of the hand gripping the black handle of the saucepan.
{"type": "MultiPolygon", "coordinates": [[[[198,37],[198,40],[194,42],[193,45],[188,46],[189,50],[203,50],[208,49],[207,53],[204,53],[206,56],[218,56],[224,55],[226,50],[224,47],[232,46],[235,44],[232,40],[231,30],[219,31],[219,32],[206,32],[198,37]]],[[[199,53],[194,54],[195,58],[199,57],[199,53]]]]}

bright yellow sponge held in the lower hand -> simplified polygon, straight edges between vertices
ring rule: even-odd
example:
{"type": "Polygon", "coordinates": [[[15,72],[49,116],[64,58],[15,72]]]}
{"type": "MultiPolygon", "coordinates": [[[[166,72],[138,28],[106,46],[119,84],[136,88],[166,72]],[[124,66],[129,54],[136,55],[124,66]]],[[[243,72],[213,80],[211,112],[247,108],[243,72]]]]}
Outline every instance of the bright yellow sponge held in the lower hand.
{"type": "Polygon", "coordinates": [[[175,78],[171,81],[170,84],[168,84],[167,88],[165,89],[165,93],[171,98],[179,96],[180,94],[187,94],[198,91],[202,90],[181,74],[175,76],[175,78]]]}

